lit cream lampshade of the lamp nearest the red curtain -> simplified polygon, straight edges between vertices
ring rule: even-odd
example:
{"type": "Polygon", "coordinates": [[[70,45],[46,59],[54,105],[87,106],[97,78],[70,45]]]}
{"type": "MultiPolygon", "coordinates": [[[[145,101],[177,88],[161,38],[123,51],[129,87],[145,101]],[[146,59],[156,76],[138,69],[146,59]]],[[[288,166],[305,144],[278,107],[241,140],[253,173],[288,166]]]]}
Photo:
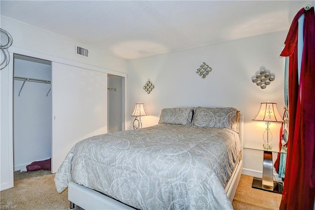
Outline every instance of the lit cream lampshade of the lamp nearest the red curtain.
{"type": "Polygon", "coordinates": [[[260,108],[252,120],[265,122],[283,122],[276,103],[260,103],[260,108]]]}

